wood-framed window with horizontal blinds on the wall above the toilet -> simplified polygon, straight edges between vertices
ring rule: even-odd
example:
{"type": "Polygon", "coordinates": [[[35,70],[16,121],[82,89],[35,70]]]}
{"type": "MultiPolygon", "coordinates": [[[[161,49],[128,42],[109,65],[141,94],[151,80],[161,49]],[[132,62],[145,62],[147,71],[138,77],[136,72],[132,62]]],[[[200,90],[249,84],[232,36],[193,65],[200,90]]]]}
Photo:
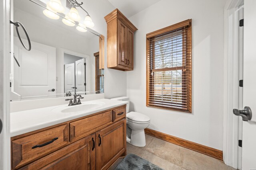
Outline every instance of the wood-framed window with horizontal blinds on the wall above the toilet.
{"type": "Polygon", "coordinates": [[[146,106],[191,113],[191,20],[146,35],[146,106]]]}

